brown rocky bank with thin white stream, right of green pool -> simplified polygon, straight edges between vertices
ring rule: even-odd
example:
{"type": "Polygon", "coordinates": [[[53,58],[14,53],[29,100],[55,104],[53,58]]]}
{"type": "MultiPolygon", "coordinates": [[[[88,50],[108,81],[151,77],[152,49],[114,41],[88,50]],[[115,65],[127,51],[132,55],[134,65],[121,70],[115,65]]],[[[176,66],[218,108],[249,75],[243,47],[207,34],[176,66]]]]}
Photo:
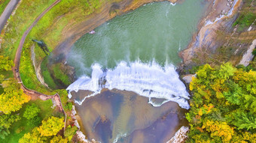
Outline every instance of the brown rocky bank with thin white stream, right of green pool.
{"type": "MultiPolygon", "coordinates": [[[[193,62],[194,58],[203,53],[215,52],[221,46],[218,40],[218,31],[229,31],[236,19],[235,13],[242,5],[242,0],[215,0],[209,6],[209,14],[199,25],[199,31],[194,35],[193,40],[187,49],[180,52],[185,65],[193,62]]],[[[203,59],[202,59],[203,60],[203,59]]]]}

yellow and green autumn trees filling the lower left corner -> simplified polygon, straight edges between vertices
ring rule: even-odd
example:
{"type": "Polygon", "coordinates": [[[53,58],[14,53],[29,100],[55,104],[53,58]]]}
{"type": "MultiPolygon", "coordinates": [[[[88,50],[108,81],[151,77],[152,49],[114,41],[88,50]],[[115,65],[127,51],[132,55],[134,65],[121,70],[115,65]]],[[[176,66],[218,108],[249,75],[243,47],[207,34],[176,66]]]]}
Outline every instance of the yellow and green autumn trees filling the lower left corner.
{"type": "MultiPolygon", "coordinates": [[[[78,128],[69,125],[66,127],[64,136],[60,136],[58,133],[64,127],[63,115],[60,115],[59,112],[54,113],[54,109],[50,107],[53,105],[50,100],[50,106],[41,101],[43,102],[41,108],[37,104],[29,102],[30,97],[20,89],[20,83],[17,83],[14,78],[8,78],[5,74],[5,72],[11,72],[12,67],[14,67],[14,62],[8,57],[0,55],[0,142],[6,142],[6,138],[10,136],[19,139],[19,136],[15,137],[19,134],[23,135],[19,140],[20,143],[70,142],[78,128]],[[45,111],[41,111],[42,109],[45,111]],[[20,126],[19,124],[21,127],[15,130],[14,135],[11,134],[11,130],[13,132],[17,128],[14,126],[20,126]],[[24,134],[25,126],[31,130],[29,133],[26,130],[24,134]]],[[[68,102],[66,91],[54,92],[59,93],[64,109],[70,111],[72,103],[68,102]]],[[[72,119],[69,117],[69,120],[72,119]]],[[[69,121],[70,123],[72,121],[69,121]]]]}

